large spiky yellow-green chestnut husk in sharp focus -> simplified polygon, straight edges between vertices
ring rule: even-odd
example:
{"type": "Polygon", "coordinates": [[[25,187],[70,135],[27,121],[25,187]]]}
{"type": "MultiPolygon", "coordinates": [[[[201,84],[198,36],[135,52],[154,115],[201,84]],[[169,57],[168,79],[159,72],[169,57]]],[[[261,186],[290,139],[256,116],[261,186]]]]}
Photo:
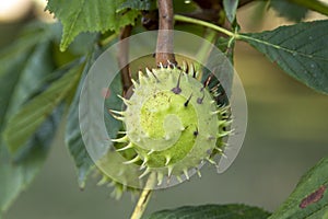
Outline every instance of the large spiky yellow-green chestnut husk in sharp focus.
{"type": "Polygon", "coordinates": [[[140,177],[155,172],[157,184],[165,175],[189,178],[188,170],[203,160],[214,163],[211,157],[222,151],[222,138],[230,134],[226,107],[219,107],[194,69],[186,69],[140,71],[132,96],[124,99],[126,111],[112,111],[126,128],[125,136],[113,140],[125,143],[117,151],[126,158],[125,151],[133,151],[125,163],[140,164],[140,177]]]}

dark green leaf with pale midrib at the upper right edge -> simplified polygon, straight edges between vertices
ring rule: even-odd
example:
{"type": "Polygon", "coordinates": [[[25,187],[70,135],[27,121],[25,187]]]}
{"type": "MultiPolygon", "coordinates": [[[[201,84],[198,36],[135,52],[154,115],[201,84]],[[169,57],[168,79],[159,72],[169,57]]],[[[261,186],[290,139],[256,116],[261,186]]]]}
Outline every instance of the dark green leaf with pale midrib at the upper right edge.
{"type": "Polygon", "coordinates": [[[265,54],[291,77],[328,94],[328,20],[237,37],[265,54]]]}

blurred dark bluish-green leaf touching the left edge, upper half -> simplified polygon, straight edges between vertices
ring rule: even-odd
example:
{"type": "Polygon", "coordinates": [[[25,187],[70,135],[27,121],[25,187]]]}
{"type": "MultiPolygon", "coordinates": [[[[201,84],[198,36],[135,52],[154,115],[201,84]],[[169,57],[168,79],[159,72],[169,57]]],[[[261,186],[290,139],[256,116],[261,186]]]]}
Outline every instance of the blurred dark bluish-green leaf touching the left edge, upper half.
{"type": "Polygon", "coordinates": [[[44,80],[54,70],[51,46],[48,42],[34,38],[45,36],[44,26],[28,26],[15,43],[0,51],[0,130],[9,115],[44,84],[44,80]]]}

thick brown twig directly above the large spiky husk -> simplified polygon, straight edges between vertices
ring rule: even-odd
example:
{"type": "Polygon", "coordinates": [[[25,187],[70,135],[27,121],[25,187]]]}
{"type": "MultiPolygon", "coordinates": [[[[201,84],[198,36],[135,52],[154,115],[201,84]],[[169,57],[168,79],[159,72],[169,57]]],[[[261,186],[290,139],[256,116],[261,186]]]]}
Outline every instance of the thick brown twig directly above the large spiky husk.
{"type": "Polygon", "coordinates": [[[159,18],[160,32],[156,45],[156,65],[162,64],[164,67],[168,65],[177,65],[173,53],[173,33],[166,30],[173,30],[173,0],[159,0],[159,18]]]}

